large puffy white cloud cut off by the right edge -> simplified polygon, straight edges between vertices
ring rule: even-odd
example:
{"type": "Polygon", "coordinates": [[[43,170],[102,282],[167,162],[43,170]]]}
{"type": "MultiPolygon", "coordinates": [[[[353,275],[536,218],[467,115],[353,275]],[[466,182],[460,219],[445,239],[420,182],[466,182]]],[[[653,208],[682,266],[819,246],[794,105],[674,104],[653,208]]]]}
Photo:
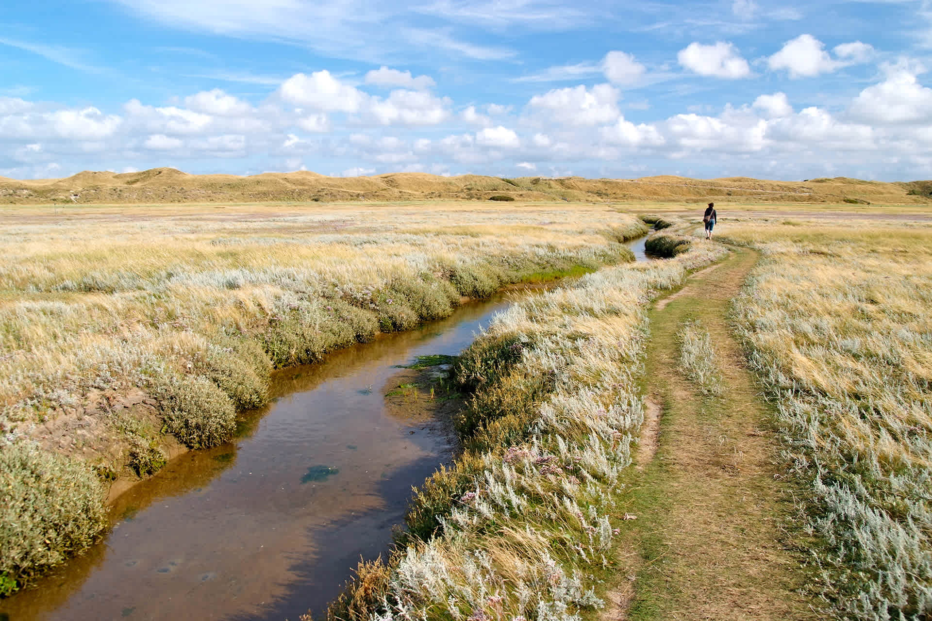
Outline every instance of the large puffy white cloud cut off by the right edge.
{"type": "Polygon", "coordinates": [[[927,126],[932,124],[932,88],[919,84],[907,69],[889,68],[884,82],[862,90],[849,112],[869,124],[927,126]]]}

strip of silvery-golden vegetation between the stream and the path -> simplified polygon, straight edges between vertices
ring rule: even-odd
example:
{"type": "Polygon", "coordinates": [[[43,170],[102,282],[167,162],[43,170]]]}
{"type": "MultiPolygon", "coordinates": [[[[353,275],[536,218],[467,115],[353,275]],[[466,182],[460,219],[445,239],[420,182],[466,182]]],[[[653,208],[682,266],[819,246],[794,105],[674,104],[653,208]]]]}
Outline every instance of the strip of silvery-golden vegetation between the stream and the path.
{"type": "Polygon", "coordinates": [[[388,561],[362,563],[329,618],[578,618],[621,528],[643,419],[645,303],[720,255],[600,270],[514,304],[454,365],[464,451],[421,486],[388,561]]]}

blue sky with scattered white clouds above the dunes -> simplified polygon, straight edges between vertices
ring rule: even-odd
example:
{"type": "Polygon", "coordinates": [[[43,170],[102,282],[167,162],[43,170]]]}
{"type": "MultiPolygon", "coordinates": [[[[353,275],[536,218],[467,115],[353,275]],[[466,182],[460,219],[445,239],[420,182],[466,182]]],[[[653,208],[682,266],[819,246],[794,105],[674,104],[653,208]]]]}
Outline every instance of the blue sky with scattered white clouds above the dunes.
{"type": "Polygon", "coordinates": [[[5,0],[0,175],[932,177],[932,0],[5,0]]]}

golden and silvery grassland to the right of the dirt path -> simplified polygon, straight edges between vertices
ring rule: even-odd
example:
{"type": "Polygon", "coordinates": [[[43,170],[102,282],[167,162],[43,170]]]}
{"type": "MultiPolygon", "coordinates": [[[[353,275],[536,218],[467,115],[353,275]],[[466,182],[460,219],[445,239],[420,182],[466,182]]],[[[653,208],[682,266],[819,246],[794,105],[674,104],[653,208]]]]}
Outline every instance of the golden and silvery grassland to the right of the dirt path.
{"type": "Polygon", "coordinates": [[[735,304],[778,412],[814,585],[836,614],[932,614],[932,229],[733,227],[764,253],[735,304]]]}

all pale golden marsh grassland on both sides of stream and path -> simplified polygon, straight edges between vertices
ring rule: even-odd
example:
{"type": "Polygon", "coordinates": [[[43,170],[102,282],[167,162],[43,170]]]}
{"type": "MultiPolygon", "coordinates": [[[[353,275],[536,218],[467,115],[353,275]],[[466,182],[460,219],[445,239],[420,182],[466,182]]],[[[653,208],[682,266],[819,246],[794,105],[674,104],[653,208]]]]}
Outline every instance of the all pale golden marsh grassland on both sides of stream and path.
{"type": "MultiPolygon", "coordinates": [[[[626,528],[619,482],[650,380],[647,308],[725,252],[692,236],[700,213],[666,202],[6,208],[0,591],[100,532],[114,476],[158,470],[172,443],[228,438],[237,410],[266,399],[272,368],[445,317],[462,296],[598,269],[515,304],[459,358],[472,395],[457,421],[464,452],[418,489],[403,545],[363,563],[331,609],[354,621],[592,614],[626,528]],[[671,223],[652,244],[671,259],[627,263],[621,242],[645,230],[636,214],[671,223]]],[[[840,618],[932,613],[932,218],[914,205],[732,204],[717,234],[762,256],[731,322],[774,403],[780,480],[802,490],[785,527],[816,568],[807,596],[840,618]]],[[[703,398],[731,403],[735,374],[706,328],[668,328],[672,364],[703,398]]]]}

